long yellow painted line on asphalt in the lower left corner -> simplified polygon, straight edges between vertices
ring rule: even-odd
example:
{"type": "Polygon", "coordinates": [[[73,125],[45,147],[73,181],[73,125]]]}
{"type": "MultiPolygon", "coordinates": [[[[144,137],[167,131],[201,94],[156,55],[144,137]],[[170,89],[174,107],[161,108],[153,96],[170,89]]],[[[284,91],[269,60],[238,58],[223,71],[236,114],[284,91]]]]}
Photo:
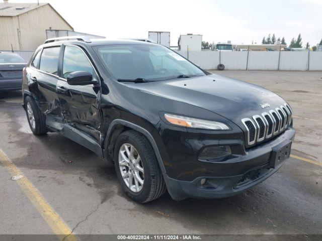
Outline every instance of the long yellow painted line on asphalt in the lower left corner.
{"type": "Polygon", "coordinates": [[[34,185],[24,177],[24,174],[11,162],[8,156],[0,149],[0,163],[5,166],[12,176],[23,176],[16,180],[26,196],[36,207],[41,216],[45,219],[52,231],[58,235],[59,240],[76,241],[77,238],[71,234],[70,228],[46,202],[34,185]],[[68,236],[66,236],[68,235],[68,236]]]}

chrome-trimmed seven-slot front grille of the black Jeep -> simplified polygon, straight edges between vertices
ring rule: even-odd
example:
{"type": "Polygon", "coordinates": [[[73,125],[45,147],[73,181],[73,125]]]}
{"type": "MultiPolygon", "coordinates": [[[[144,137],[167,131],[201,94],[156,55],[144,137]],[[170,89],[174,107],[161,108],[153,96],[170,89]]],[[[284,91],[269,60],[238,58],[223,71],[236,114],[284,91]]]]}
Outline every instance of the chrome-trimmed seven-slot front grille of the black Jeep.
{"type": "Polygon", "coordinates": [[[280,134],[291,124],[292,109],[288,104],[281,105],[261,115],[243,118],[241,122],[247,129],[248,145],[253,145],[280,134]]]}

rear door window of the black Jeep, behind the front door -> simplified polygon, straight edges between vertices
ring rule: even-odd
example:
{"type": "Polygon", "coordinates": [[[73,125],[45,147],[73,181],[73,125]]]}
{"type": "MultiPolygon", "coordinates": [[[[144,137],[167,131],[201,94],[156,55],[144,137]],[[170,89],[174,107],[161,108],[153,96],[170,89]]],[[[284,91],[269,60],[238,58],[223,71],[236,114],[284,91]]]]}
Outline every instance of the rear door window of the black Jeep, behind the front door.
{"type": "Polygon", "coordinates": [[[57,75],[60,47],[45,48],[40,57],[39,69],[57,75]]]}

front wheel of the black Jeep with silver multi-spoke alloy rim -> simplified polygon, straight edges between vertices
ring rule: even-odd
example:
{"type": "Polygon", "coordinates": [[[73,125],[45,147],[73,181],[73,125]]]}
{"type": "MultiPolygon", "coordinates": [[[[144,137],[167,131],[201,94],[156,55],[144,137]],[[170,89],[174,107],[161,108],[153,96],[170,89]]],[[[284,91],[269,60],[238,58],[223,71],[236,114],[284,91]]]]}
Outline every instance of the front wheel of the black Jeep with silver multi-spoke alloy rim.
{"type": "Polygon", "coordinates": [[[116,140],[114,162],[123,191],[134,201],[150,202],[166,191],[166,183],[149,141],[136,131],[116,140]]]}

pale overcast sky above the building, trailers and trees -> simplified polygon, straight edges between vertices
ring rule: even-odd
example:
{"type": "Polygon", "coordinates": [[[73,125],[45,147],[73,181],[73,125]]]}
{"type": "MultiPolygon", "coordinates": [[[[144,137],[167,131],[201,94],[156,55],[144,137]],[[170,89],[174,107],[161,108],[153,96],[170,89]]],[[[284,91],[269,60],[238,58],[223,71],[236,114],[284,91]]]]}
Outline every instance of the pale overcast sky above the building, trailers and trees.
{"type": "MultiPolygon", "coordinates": [[[[1,1],[1,0],[0,0],[1,1]]],[[[35,3],[37,0],[9,0],[35,3]]],[[[302,45],[322,39],[322,0],[39,0],[50,3],[77,32],[117,38],[147,38],[148,31],[171,32],[176,46],[181,34],[201,34],[210,43],[261,43],[274,34],[302,45]]]]}

